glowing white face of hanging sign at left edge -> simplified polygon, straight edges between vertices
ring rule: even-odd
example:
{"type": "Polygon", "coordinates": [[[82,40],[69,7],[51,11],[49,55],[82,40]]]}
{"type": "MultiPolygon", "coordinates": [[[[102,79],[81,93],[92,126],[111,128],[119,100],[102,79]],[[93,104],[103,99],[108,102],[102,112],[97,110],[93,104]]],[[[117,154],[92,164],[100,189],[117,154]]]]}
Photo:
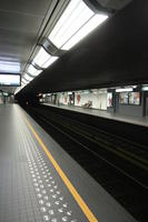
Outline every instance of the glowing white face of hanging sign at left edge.
{"type": "Polygon", "coordinates": [[[20,85],[20,75],[0,74],[0,85],[20,85]]]}

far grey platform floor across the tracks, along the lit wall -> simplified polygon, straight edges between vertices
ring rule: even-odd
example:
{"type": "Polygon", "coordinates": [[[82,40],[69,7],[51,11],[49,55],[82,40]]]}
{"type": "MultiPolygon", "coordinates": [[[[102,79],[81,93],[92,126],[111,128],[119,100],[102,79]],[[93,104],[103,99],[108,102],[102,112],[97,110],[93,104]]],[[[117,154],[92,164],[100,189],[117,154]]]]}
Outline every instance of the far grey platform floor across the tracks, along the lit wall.
{"type": "Polygon", "coordinates": [[[117,121],[127,122],[127,123],[131,123],[131,124],[148,127],[148,118],[147,117],[140,118],[140,117],[131,117],[131,115],[121,115],[121,114],[108,112],[106,110],[86,109],[86,108],[81,108],[81,107],[72,107],[72,105],[70,107],[70,105],[63,105],[63,104],[60,104],[60,105],[50,104],[50,103],[43,103],[43,104],[49,105],[49,107],[59,108],[59,109],[66,109],[66,110],[70,110],[70,111],[81,112],[85,114],[97,115],[97,117],[105,118],[105,119],[111,119],[111,120],[117,120],[117,121]]]}

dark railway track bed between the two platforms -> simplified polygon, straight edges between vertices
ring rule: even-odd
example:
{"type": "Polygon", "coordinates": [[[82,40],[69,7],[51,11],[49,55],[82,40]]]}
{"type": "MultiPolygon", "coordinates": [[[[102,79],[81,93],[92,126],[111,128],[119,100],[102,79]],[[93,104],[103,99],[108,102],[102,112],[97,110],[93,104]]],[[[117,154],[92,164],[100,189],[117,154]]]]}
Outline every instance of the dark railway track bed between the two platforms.
{"type": "Polygon", "coordinates": [[[138,221],[147,221],[146,147],[50,111],[29,114],[138,221]]]}

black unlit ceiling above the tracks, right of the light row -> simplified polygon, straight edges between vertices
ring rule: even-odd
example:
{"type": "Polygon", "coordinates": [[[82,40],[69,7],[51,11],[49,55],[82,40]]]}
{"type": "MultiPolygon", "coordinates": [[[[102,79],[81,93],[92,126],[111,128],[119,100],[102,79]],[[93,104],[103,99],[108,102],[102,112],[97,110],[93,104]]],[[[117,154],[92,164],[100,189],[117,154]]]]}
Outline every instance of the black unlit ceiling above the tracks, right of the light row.
{"type": "Polygon", "coordinates": [[[148,82],[148,0],[135,0],[18,95],[148,82]]]}

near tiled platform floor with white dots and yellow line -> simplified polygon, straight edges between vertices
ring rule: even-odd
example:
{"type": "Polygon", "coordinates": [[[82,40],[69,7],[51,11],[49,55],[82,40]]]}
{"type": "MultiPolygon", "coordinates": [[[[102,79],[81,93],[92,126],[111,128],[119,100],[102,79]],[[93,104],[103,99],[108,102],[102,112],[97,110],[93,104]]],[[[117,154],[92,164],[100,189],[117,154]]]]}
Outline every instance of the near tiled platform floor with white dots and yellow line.
{"type": "Polygon", "coordinates": [[[0,105],[0,222],[136,221],[19,105],[0,105]]]}

